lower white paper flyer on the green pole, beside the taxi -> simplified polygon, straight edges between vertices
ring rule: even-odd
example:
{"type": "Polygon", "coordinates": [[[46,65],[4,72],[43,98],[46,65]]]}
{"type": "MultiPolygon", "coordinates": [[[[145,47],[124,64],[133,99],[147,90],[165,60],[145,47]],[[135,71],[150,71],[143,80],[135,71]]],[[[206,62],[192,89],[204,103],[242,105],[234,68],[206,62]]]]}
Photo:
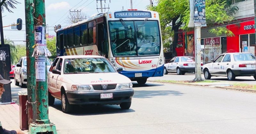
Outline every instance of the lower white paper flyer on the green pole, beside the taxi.
{"type": "Polygon", "coordinates": [[[45,59],[35,59],[36,81],[45,81],[45,59]]]}

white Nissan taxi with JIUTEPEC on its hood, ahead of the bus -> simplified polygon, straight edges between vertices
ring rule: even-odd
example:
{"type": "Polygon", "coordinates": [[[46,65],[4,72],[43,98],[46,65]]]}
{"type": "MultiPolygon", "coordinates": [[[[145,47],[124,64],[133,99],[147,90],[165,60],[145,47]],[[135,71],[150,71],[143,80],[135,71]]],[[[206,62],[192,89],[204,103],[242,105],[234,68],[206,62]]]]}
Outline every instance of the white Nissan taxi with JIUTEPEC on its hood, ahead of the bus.
{"type": "Polygon", "coordinates": [[[47,74],[49,105],[61,100],[62,111],[73,104],[110,104],[129,109],[134,90],[132,81],[119,74],[102,56],[60,56],[47,74]]]}

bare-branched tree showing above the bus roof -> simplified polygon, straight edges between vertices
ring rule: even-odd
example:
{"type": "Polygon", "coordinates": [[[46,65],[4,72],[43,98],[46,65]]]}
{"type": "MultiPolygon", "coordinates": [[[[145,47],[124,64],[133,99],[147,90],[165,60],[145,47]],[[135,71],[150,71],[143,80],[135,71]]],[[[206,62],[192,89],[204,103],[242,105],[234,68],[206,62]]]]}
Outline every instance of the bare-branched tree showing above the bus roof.
{"type": "Polygon", "coordinates": [[[87,14],[84,12],[69,12],[68,18],[67,18],[67,23],[68,24],[73,24],[82,20],[87,19],[87,14]]]}

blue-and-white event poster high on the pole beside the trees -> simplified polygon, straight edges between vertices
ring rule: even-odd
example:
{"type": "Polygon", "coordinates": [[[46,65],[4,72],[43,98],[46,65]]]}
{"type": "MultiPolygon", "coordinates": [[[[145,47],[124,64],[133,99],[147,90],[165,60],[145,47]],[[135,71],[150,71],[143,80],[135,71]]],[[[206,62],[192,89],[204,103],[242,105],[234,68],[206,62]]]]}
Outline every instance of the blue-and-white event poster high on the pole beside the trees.
{"type": "Polygon", "coordinates": [[[194,23],[195,26],[206,26],[205,0],[195,0],[194,23]]]}

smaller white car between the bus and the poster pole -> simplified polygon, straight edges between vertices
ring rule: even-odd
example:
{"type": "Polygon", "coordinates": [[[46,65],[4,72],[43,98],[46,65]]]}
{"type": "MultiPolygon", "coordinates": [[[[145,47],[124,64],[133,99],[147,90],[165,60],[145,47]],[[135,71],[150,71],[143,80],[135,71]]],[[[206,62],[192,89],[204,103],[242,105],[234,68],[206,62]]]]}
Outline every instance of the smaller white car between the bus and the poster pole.
{"type": "MultiPolygon", "coordinates": [[[[201,66],[203,63],[201,63],[201,66]]],[[[191,56],[177,56],[171,59],[170,63],[164,64],[164,74],[177,72],[184,75],[186,72],[195,72],[195,58],[191,56]]]]}

